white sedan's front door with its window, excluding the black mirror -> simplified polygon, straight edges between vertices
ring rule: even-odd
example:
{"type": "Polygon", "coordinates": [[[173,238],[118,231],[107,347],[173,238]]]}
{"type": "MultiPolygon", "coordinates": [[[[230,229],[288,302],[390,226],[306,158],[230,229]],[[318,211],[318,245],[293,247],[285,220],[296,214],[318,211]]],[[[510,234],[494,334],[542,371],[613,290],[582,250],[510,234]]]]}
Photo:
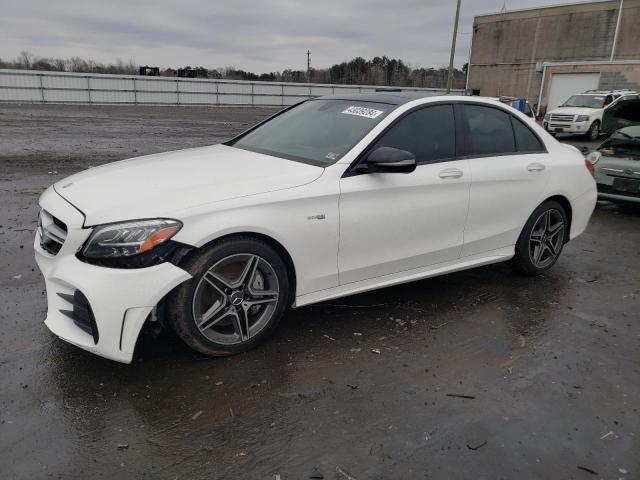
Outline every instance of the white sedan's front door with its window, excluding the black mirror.
{"type": "Polygon", "coordinates": [[[456,260],[462,248],[470,175],[457,154],[454,107],[409,112],[367,152],[379,147],[410,151],[418,166],[341,179],[341,284],[456,260]]]}

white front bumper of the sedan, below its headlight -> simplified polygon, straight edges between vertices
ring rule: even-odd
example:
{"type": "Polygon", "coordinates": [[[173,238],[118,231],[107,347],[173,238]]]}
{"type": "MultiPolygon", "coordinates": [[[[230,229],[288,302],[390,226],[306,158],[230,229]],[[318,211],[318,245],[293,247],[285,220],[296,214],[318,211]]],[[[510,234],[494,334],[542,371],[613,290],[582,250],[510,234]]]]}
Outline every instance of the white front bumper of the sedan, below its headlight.
{"type": "Polygon", "coordinates": [[[40,206],[64,222],[67,237],[52,255],[34,241],[35,258],[47,290],[47,327],[61,339],[97,355],[130,363],[136,340],[155,305],[191,275],[170,263],[148,268],[117,269],[80,261],[76,252],[89,237],[84,216],[49,188],[40,206]],[[68,315],[69,299],[80,291],[90,306],[98,335],[78,326],[68,315]],[[94,339],[97,337],[97,341],[94,339]]]}

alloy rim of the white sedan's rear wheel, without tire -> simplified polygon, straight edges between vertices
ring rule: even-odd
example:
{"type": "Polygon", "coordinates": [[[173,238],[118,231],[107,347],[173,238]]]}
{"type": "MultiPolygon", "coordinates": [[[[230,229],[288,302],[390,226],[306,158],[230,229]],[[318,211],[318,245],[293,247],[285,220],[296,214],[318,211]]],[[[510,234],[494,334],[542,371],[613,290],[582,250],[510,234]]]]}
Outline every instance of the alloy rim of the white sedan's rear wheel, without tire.
{"type": "Polygon", "coordinates": [[[543,212],[529,236],[529,258],[537,268],[546,268],[560,255],[564,241],[564,217],[555,208],[543,212]]]}

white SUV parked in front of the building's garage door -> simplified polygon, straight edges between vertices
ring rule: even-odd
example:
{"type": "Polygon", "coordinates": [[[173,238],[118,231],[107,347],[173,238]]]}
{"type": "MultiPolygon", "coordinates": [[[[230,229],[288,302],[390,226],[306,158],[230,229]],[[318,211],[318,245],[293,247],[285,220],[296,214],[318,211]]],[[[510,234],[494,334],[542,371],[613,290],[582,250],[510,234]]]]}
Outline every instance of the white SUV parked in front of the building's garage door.
{"type": "Polygon", "coordinates": [[[556,133],[584,133],[590,140],[600,135],[604,110],[625,95],[635,95],[631,90],[587,90],[572,95],[558,108],[547,112],[543,125],[551,135],[556,133]]]}

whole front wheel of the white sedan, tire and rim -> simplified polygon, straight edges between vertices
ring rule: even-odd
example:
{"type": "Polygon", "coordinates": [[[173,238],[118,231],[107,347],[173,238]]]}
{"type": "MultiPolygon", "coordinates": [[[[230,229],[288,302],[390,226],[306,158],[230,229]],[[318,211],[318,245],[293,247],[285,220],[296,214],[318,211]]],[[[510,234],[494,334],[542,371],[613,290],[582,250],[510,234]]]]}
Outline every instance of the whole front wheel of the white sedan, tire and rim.
{"type": "Polygon", "coordinates": [[[193,278],[169,296],[168,321],[187,345],[205,355],[255,347],[273,332],[288,305],[286,265],[261,240],[229,238],[181,266],[193,278]]]}

